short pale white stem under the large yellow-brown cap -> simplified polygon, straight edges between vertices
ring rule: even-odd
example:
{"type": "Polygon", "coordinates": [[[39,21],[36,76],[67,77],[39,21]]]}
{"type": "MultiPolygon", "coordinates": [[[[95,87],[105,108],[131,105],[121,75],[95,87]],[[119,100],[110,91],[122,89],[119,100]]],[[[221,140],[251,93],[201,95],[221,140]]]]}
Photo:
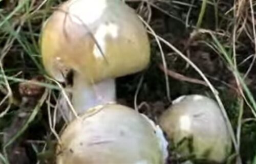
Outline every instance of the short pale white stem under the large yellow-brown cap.
{"type": "Polygon", "coordinates": [[[78,115],[97,105],[116,101],[115,79],[92,84],[79,74],[74,74],[72,90],[72,105],[78,115]]]}

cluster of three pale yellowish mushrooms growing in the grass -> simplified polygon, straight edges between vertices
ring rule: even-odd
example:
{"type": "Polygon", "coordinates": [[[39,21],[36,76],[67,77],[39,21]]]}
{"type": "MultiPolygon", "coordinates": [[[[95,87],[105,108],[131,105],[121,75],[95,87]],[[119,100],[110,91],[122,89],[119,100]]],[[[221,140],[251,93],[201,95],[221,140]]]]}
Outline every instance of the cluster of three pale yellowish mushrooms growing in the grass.
{"type": "MultiPolygon", "coordinates": [[[[56,162],[165,163],[167,142],[145,115],[116,103],[115,79],[146,68],[150,43],[135,11],[118,0],[69,0],[47,20],[41,54],[50,76],[73,72],[70,124],[61,134],[56,162]]],[[[174,145],[193,137],[196,158],[221,162],[230,151],[226,124],[215,102],[202,96],[175,101],[160,118],[174,145]]],[[[181,155],[191,153],[182,144],[181,155]]]]}

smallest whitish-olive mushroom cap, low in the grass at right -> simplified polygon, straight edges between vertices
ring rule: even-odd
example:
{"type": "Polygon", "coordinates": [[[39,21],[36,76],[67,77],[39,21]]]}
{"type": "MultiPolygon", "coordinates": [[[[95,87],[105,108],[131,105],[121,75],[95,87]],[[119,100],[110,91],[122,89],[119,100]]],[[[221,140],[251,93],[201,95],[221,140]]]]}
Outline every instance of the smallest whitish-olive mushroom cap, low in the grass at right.
{"type": "Polygon", "coordinates": [[[231,151],[221,110],[207,97],[189,95],[176,99],[161,115],[160,126],[182,156],[223,162],[231,151]]]}

